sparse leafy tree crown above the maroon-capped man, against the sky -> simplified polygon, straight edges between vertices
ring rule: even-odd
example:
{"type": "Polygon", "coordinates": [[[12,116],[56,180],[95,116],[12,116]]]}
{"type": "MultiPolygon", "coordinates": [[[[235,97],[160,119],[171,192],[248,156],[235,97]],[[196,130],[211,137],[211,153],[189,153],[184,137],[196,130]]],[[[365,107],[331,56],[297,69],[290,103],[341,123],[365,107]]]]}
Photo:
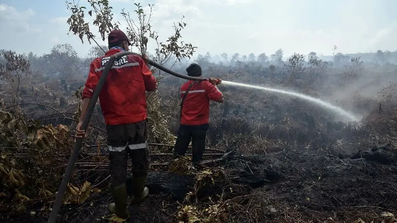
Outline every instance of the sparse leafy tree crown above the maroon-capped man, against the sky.
{"type": "MultiPolygon", "coordinates": [[[[106,39],[107,34],[114,29],[119,29],[120,22],[113,21],[113,7],[109,6],[108,0],[87,0],[90,3],[91,10],[88,11],[90,16],[95,18],[93,25],[98,27],[98,32],[101,35],[102,40],[106,39]]],[[[191,58],[197,47],[191,43],[185,43],[181,40],[181,32],[187,26],[183,21],[183,18],[178,23],[174,23],[174,33],[166,38],[165,41],[160,41],[159,35],[156,31],[152,30],[151,15],[152,15],[152,4],[148,4],[149,12],[145,12],[140,3],[134,3],[136,9],[133,11],[135,17],[126,11],[122,10],[121,15],[127,22],[127,35],[130,38],[130,42],[133,47],[136,47],[141,54],[149,54],[147,52],[147,44],[149,40],[152,40],[156,46],[154,49],[155,59],[160,64],[167,63],[170,59],[174,59],[173,63],[177,60],[188,57],[191,58]]],[[[85,11],[86,6],[80,6],[79,2],[68,2],[67,9],[72,14],[70,15],[67,23],[69,24],[69,31],[73,32],[74,35],[78,35],[80,40],[83,42],[83,38],[87,37],[88,41],[95,36],[90,31],[89,23],[85,22],[85,11]]],[[[91,43],[91,42],[90,42],[91,43]]]]}

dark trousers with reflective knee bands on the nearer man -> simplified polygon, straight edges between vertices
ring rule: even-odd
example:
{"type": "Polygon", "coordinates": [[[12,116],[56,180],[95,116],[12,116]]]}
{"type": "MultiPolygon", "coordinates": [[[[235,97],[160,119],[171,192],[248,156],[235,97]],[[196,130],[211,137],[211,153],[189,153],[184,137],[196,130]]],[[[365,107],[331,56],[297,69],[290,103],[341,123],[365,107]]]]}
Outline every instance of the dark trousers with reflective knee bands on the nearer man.
{"type": "Polygon", "coordinates": [[[146,176],[150,165],[146,121],[107,125],[106,131],[112,186],[126,183],[128,156],[132,160],[132,177],[146,176]]]}

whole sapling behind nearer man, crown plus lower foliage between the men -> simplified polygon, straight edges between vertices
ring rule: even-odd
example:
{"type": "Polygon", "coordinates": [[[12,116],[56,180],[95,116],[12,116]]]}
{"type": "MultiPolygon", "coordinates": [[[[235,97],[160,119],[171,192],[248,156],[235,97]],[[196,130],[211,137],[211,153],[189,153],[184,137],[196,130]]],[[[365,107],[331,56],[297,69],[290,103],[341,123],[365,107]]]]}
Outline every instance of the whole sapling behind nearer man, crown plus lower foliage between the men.
{"type": "MultiPolygon", "coordinates": [[[[95,19],[93,25],[98,27],[98,31],[101,35],[102,40],[105,40],[107,34],[113,30],[119,28],[119,22],[113,21],[112,7],[109,5],[108,0],[87,0],[90,4],[91,10],[88,11],[90,16],[95,19]]],[[[70,25],[69,31],[73,34],[78,35],[81,42],[83,38],[87,37],[89,43],[91,43],[94,35],[90,31],[90,25],[85,22],[85,12],[87,8],[80,6],[76,2],[67,2],[67,9],[71,11],[71,15],[67,20],[70,25]]],[[[132,18],[130,12],[125,9],[122,10],[121,14],[127,22],[127,35],[130,38],[132,46],[137,48],[139,53],[154,56],[155,60],[160,64],[170,64],[172,67],[176,61],[180,61],[182,58],[191,58],[197,47],[194,47],[190,43],[185,43],[181,40],[181,32],[186,27],[186,23],[183,18],[180,22],[174,23],[174,33],[166,39],[165,42],[161,42],[156,31],[152,30],[151,26],[151,15],[153,5],[148,4],[149,12],[145,13],[142,6],[139,3],[135,3],[136,10],[134,10],[136,18],[132,18]],[[147,52],[147,44],[152,41],[155,44],[154,54],[147,52]],[[173,60],[173,61],[170,61],[173,60]]],[[[161,70],[153,69],[154,73],[157,73],[157,80],[162,77],[161,70]]],[[[160,96],[155,93],[148,94],[148,120],[149,120],[149,141],[152,142],[165,142],[173,141],[173,135],[169,131],[167,117],[162,114],[160,109],[160,96]]]]}

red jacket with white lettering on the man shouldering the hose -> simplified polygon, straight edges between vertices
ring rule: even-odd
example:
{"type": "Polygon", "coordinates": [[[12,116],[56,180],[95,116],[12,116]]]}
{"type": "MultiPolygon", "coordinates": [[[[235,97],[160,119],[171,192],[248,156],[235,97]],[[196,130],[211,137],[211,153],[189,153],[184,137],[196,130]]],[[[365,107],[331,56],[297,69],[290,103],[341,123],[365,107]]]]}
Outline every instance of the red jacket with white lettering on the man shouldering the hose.
{"type": "MultiPolygon", "coordinates": [[[[92,97],[106,62],[110,56],[119,52],[119,49],[110,50],[105,56],[91,62],[83,99],[92,97]]],[[[117,125],[145,120],[145,90],[154,91],[156,88],[156,79],[141,57],[126,55],[116,60],[99,94],[105,124],[117,125]]]]}

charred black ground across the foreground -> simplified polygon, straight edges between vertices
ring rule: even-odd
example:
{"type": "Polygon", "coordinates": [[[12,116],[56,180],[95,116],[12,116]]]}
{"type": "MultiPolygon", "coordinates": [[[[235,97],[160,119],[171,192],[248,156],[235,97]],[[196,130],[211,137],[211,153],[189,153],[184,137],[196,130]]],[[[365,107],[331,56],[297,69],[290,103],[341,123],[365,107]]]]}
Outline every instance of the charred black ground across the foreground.
{"type": "MultiPolygon", "coordinates": [[[[235,154],[225,163],[226,180],[206,188],[195,204],[205,206],[223,194],[221,204],[230,214],[226,222],[381,222],[378,215],[396,212],[396,158],[390,145],[338,156],[322,148],[235,154]]],[[[152,170],[147,181],[151,195],[130,207],[130,222],[175,222],[174,214],[194,185],[192,175],[152,170]]],[[[81,205],[64,205],[60,222],[107,222],[102,217],[109,215],[107,204],[112,198],[106,187],[102,189],[81,205]]],[[[35,208],[31,211],[40,213],[35,208]]],[[[24,221],[45,219],[19,215],[10,222],[24,221]]]]}

